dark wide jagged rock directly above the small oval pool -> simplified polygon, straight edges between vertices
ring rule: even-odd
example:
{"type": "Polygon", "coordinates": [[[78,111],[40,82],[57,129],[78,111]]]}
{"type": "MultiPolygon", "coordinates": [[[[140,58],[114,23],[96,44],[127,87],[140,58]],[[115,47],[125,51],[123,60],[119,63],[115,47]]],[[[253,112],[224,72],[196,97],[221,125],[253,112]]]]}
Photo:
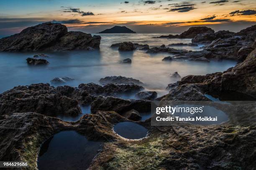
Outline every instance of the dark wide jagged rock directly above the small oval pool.
{"type": "Polygon", "coordinates": [[[125,112],[134,109],[138,112],[149,112],[151,110],[151,101],[149,100],[124,100],[112,96],[103,97],[98,96],[95,101],[91,104],[92,113],[97,110],[102,111],[115,111],[120,115],[125,112]]]}

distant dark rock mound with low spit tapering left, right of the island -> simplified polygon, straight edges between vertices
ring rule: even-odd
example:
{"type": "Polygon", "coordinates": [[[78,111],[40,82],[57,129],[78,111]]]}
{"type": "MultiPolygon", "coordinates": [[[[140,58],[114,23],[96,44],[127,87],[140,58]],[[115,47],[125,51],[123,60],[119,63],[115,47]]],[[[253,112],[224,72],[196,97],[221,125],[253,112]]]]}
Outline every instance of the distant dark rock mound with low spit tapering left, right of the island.
{"type": "Polygon", "coordinates": [[[187,31],[182,32],[180,35],[161,35],[160,37],[153,38],[194,38],[197,34],[214,32],[208,27],[190,27],[187,31]]]}

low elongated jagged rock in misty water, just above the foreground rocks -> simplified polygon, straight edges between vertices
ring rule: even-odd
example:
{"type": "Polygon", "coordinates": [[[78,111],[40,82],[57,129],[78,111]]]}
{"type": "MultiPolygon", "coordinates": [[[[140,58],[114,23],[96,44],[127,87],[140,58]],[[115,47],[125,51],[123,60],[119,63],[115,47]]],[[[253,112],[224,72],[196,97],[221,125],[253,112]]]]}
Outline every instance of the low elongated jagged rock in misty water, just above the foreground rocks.
{"type": "Polygon", "coordinates": [[[143,85],[143,82],[140,80],[131,78],[131,77],[123,77],[123,76],[108,76],[105,78],[100,79],[101,84],[108,84],[108,83],[117,83],[117,84],[123,84],[123,83],[134,83],[136,85],[143,85]]]}

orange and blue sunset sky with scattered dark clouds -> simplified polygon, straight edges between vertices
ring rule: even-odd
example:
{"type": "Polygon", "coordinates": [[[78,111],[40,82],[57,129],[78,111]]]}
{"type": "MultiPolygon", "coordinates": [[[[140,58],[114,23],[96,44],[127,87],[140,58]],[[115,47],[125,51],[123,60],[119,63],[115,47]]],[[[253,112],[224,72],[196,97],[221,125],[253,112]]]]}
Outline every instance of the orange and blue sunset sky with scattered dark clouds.
{"type": "Polygon", "coordinates": [[[0,35],[44,22],[97,33],[115,25],[136,32],[191,26],[237,32],[256,24],[256,0],[0,0],[0,35]]]}

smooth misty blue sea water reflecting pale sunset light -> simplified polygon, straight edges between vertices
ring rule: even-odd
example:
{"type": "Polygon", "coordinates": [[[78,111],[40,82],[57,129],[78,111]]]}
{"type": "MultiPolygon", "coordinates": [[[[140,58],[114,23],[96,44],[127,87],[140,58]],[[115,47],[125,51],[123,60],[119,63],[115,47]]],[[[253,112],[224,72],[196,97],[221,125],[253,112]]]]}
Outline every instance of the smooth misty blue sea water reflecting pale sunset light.
{"type": "MultiPolygon", "coordinates": [[[[209,63],[195,61],[163,62],[168,53],[148,54],[145,50],[120,52],[111,48],[113,43],[131,41],[148,44],[150,47],[168,45],[171,43],[189,43],[191,39],[155,39],[163,33],[136,34],[99,34],[102,37],[100,50],[44,52],[49,57],[47,66],[28,66],[27,57],[33,57],[37,52],[15,53],[0,52],[0,92],[4,92],[17,85],[32,83],[50,83],[54,77],[71,77],[74,81],[66,85],[77,87],[80,83],[98,81],[100,78],[112,75],[133,77],[145,83],[147,90],[155,90],[158,96],[167,93],[169,83],[176,82],[169,74],[177,71],[182,77],[186,75],[205,75],[212,72],[224,71],[233,67],[236,62],[212,60],[209,63]],[[120,64],[119,61],[131,58],[132,63],[120,64]]],[[[166,34],[168,35],[168,34],[166,34]]],[[[3,37],[3,36],[2,36],[3,37]]],[[[175,47],[177,49],[200,50],[200,47],[175,47]]]]}

